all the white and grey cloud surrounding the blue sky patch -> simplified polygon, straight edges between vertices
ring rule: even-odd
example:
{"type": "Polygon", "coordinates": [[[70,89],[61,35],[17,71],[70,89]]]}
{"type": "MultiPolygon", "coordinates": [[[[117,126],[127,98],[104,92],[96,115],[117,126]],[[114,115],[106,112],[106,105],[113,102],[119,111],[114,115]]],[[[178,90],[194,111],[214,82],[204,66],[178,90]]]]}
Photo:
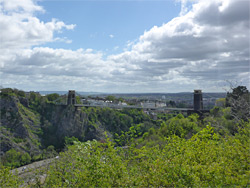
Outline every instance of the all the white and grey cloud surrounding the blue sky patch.
{"type": "Polygon", "coordinates": [[[249,87],[249,1],[197,0],[191,8],[184,1],[179,17],[144,32],[138,40],[128,42],[123,53],[106,59],[92,49],[32,48],[68,41],[54,38],[54,33],[74,25],[55,19],[40,21],[34,12],[43,9],[31,0],[14,7],[6,2],[0,4],[4,86],[180,92],[222,90],[225,80],[238,80],[249,87]]]}

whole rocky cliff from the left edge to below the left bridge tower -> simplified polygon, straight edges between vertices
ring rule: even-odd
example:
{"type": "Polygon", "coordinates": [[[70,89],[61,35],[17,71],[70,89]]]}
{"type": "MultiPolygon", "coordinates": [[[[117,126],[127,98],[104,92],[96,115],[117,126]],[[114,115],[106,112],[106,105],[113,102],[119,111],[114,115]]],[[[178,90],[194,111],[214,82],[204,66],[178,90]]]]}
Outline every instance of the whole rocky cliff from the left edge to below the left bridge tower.
{"type": "Polygon", "coordinates": [[[64,146],[64,138],[81,141],[103,139],[104,129],[89,124],[88,115],[74,106],[44,103],[39,111],[29,107],[26,98],[0,99],[0,155],[14,148],[37,155],[49,145],[64,146]]]}

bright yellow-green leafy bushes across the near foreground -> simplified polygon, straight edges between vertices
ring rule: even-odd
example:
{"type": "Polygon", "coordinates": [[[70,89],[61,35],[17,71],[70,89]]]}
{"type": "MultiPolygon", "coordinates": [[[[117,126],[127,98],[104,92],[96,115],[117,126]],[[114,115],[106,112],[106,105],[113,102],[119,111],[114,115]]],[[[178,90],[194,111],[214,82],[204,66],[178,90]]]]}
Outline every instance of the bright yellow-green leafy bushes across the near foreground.
{"type": "Polygon", "coordinates": [[[188,140],[165,137],[162,147],[75,142],[45,172],[43,186],[247,187],[249,128],[246,123],[235,137],[224,138],[207,126],[188,140]]]}

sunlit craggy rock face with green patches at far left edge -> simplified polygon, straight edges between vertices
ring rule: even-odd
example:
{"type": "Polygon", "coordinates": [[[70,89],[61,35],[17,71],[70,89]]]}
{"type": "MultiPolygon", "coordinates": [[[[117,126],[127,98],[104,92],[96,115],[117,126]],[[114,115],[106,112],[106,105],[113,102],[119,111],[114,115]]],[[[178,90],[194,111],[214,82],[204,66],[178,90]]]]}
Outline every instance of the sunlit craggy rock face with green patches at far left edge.
{"type": "MultiPolygon", "coordinates": [[[[22,103],[27,105],[27,99],[22,98],[22,103]]],[[[24,107],[18,97],[8,96],[0,100],[0,150],[1,155],[14,148],[17,151],[29,153],[39,152],[40,139],[35,131],[39,129],[39,115],[24,107]],[[34,125],[37,120],[38,125],[34,125]],[[32,151],[30,149],[32,148],[32,151]]]]}

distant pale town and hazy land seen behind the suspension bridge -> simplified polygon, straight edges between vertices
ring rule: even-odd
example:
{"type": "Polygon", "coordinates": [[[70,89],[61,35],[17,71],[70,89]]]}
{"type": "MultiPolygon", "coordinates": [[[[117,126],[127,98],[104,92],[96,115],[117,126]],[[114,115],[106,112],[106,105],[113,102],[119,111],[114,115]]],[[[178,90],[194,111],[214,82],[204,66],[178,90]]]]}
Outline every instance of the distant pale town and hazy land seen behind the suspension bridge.
{"type": "MultiPolygon", "coordinates": [[[[39,91],[41,95],[57,93],[67,95],[68,91],[39,91]]],[[[193,108],[193,93],[98,93],[98,92],[77,92],[81,96],[81,103],[89,105],[111,106],[115,105],[136,105],[141,107],[176,107],[193,108]],[[116,100],[108,100],[108,96],[114,96],[116,100]]],[[[226,97],[226,93],[203,93],[203,108],[212,109],[219,98],[226,97]]]]}

